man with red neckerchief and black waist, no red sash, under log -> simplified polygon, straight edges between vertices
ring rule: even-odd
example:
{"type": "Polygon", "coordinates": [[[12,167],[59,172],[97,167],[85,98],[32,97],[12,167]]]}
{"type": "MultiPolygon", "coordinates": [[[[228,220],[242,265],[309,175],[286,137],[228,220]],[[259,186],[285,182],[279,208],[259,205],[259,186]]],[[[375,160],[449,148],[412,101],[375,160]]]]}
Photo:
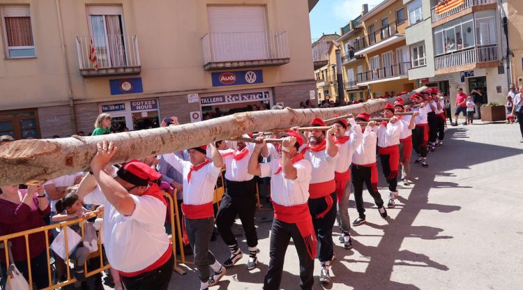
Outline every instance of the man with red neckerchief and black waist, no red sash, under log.
{"type": "MultiPolygon", "coordinates": [[[[248,137],[246,135],[246,137],[248,137]]],[[[255,227],[256,212],[256,182],[254,176],[249,174],[247,166],[249,158],[254,151],[255,144],[236,142],[236,150],[221,151],[225,163],[225,194],[220,201],[220,209],[216,215],[216,226],[223,241],[231,250],[231,257],[223,266],[232,267],[241,259],[243,253],[238,247],[238,241],[232,234],[231,227],[239,215],[249,250],[247,269],[252,270],[257,265],[258,236],[255,227]]],[[[264,146],[262,155],[267,156],[267,147],[264,146]]]]}

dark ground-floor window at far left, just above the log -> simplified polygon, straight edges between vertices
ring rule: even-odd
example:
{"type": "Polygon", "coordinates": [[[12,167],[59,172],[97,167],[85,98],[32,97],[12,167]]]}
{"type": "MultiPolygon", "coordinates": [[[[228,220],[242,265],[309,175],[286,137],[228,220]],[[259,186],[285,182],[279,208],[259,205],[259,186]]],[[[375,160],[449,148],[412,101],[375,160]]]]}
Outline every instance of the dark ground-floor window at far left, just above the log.
{"type": "Polygon", "coordinates": [[[38,112],[19,110],[0,112],[0,135],[15,139],[40,138],[38,112]]]}

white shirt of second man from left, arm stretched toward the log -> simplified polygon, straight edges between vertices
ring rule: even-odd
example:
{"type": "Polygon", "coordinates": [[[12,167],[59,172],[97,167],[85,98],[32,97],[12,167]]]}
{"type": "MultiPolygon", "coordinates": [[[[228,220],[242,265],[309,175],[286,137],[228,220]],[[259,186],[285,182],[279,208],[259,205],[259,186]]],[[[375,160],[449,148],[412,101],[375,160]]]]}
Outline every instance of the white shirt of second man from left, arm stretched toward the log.
{"type": "Polygon", "coordinates": [[[215,167],[214,162],[193,170],[190,175],[190,182],[187,176],[192,166],[191,162],[182,160],[173,153],[164,154],[163,158],[169,162],[174,169],[181,172],[183,176],[183,203],[198,206],[200,204],[209,204],[213,201],[214,187],[222,169],[215,167]]]}

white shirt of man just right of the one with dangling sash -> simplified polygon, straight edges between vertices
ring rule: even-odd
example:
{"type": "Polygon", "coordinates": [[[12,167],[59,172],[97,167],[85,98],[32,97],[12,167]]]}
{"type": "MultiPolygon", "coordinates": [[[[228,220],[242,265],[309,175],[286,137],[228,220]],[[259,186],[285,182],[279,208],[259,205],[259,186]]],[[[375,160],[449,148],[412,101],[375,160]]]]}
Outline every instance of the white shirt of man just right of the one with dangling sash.
{"type": "Polygon", "coordinates": [[[326,149],[321,151],[307,149],[303,153],[303,157],[312,164],[311,184],[334,180],[334,167],[340,154],[336,153],[334,157],[331,157],[327,154],[326,149]]]}

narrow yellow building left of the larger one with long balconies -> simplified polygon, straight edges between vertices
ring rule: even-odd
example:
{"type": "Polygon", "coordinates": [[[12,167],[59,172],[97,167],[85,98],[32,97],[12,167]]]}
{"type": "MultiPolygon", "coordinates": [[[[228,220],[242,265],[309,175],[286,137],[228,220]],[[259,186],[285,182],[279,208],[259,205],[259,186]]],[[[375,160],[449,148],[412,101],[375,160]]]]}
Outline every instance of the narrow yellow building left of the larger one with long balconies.
{"type": "Polygon", "coordinates": [[[361,17],[367,12],[368,6],[363,4],[361,15],[342,27],[340,29],[342,36],[336,40],[340,43],[342,49],[343,85],[347,101],[367,100],[369,98],[367,84],[359,85],[357,78],[358,74],[363,75],[363,72],[368,70],[367,62],[365,56],[355,53],[362,48],[359,47],[360,41],[358,40],[365,38],[361,17]]]}

